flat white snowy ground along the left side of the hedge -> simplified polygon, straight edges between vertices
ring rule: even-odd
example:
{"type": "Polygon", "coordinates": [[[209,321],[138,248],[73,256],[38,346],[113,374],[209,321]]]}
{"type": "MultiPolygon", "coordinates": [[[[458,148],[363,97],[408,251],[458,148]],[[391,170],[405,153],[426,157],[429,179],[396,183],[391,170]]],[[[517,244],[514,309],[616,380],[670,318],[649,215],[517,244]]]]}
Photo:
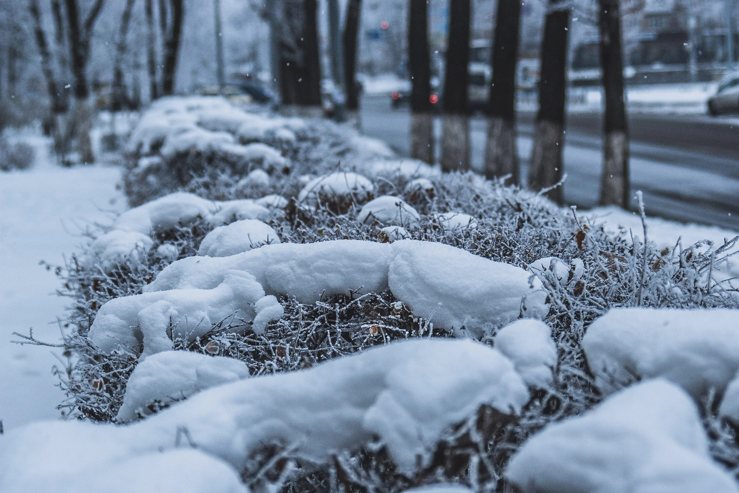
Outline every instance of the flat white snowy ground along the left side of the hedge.
{"type": "Polygon", "coordinates": [[[85,221],[104,221],[120,210],[118,168],[59,168],[39,159],[30,170],[0,173],[0,420],[4,428],[56,418],[63,395],[54,387],[50,348],[11,344],[13,331],[58,342],[56,317],[67,300],[59,280],[39,261],[63,263],[78,251],[85,221]]]}

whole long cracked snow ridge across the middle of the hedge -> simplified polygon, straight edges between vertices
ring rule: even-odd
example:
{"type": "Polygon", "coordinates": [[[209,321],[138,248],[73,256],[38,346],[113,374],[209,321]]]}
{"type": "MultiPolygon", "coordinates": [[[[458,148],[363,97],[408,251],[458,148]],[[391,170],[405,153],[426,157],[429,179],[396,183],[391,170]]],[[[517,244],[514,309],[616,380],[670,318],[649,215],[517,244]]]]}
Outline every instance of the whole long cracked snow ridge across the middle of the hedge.
{"type": "Polygon", "coordinates": [[[437,327],[481,334],[548,311],[541,281],[525,270],[463,249],[430,241],[391,244],[333,240],[266,245],[231,257],[183,258],[166,266],[145,292],[213,289],[231,269],[249,272],[267,294],[287,294],[302,303],[355,292],[383,292],[387,286],[417,317],[437,327]]]}

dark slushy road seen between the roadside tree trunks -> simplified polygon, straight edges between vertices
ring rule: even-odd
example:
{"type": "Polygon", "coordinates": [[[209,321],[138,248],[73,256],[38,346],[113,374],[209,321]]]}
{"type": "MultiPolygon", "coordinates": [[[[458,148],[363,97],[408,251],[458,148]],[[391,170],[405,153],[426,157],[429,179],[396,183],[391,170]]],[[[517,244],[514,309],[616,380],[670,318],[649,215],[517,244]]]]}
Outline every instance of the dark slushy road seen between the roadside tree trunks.
{"type": "MultiPolygon", "coordinates": [[[[407,107],[393,109],[389,97],[361,101],[361,130],[409,154],[407,107]]],[[[566,125],[565,201],[594,207],[602,163],[601,121],[596,113],[571,113],[566,125]]],[[[531,155],[534,113],[518,122],[521,176],[531,155]]],[[[437,136],[440,123],[437,122],[437,136]]],[[[471,119],[472,168],[481,170],[486,122],[471,119]]],[[[647,213],[682,222],[739,230],[739,120],[702,115],[630,114],[630,175],[633,190],[644,192],[647,213]]],[[[633,204],[635,206],[635,204],[633,204]]]]}

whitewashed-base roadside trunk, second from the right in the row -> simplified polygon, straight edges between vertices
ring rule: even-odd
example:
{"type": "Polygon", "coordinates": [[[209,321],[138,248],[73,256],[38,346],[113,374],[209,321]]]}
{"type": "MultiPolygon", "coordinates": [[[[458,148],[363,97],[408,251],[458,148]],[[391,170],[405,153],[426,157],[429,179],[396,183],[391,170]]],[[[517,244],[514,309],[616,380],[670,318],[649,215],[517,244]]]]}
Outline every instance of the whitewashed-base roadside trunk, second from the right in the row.
{"type": "MultiPolygon", "coordinates": [[[[528,171],[528,185],[534,190],[554,187],[562,179],[562,147],[567,100],[567,48],[571,12],[566,0],[550,0],[544,24],[539,79],[539,111],[534,128],[534,149],[528,171]],[[556,7],[562,5],[562,9],[556,7]]],[[[546,195],[562,202],[562,187],[546,195]]]]}

